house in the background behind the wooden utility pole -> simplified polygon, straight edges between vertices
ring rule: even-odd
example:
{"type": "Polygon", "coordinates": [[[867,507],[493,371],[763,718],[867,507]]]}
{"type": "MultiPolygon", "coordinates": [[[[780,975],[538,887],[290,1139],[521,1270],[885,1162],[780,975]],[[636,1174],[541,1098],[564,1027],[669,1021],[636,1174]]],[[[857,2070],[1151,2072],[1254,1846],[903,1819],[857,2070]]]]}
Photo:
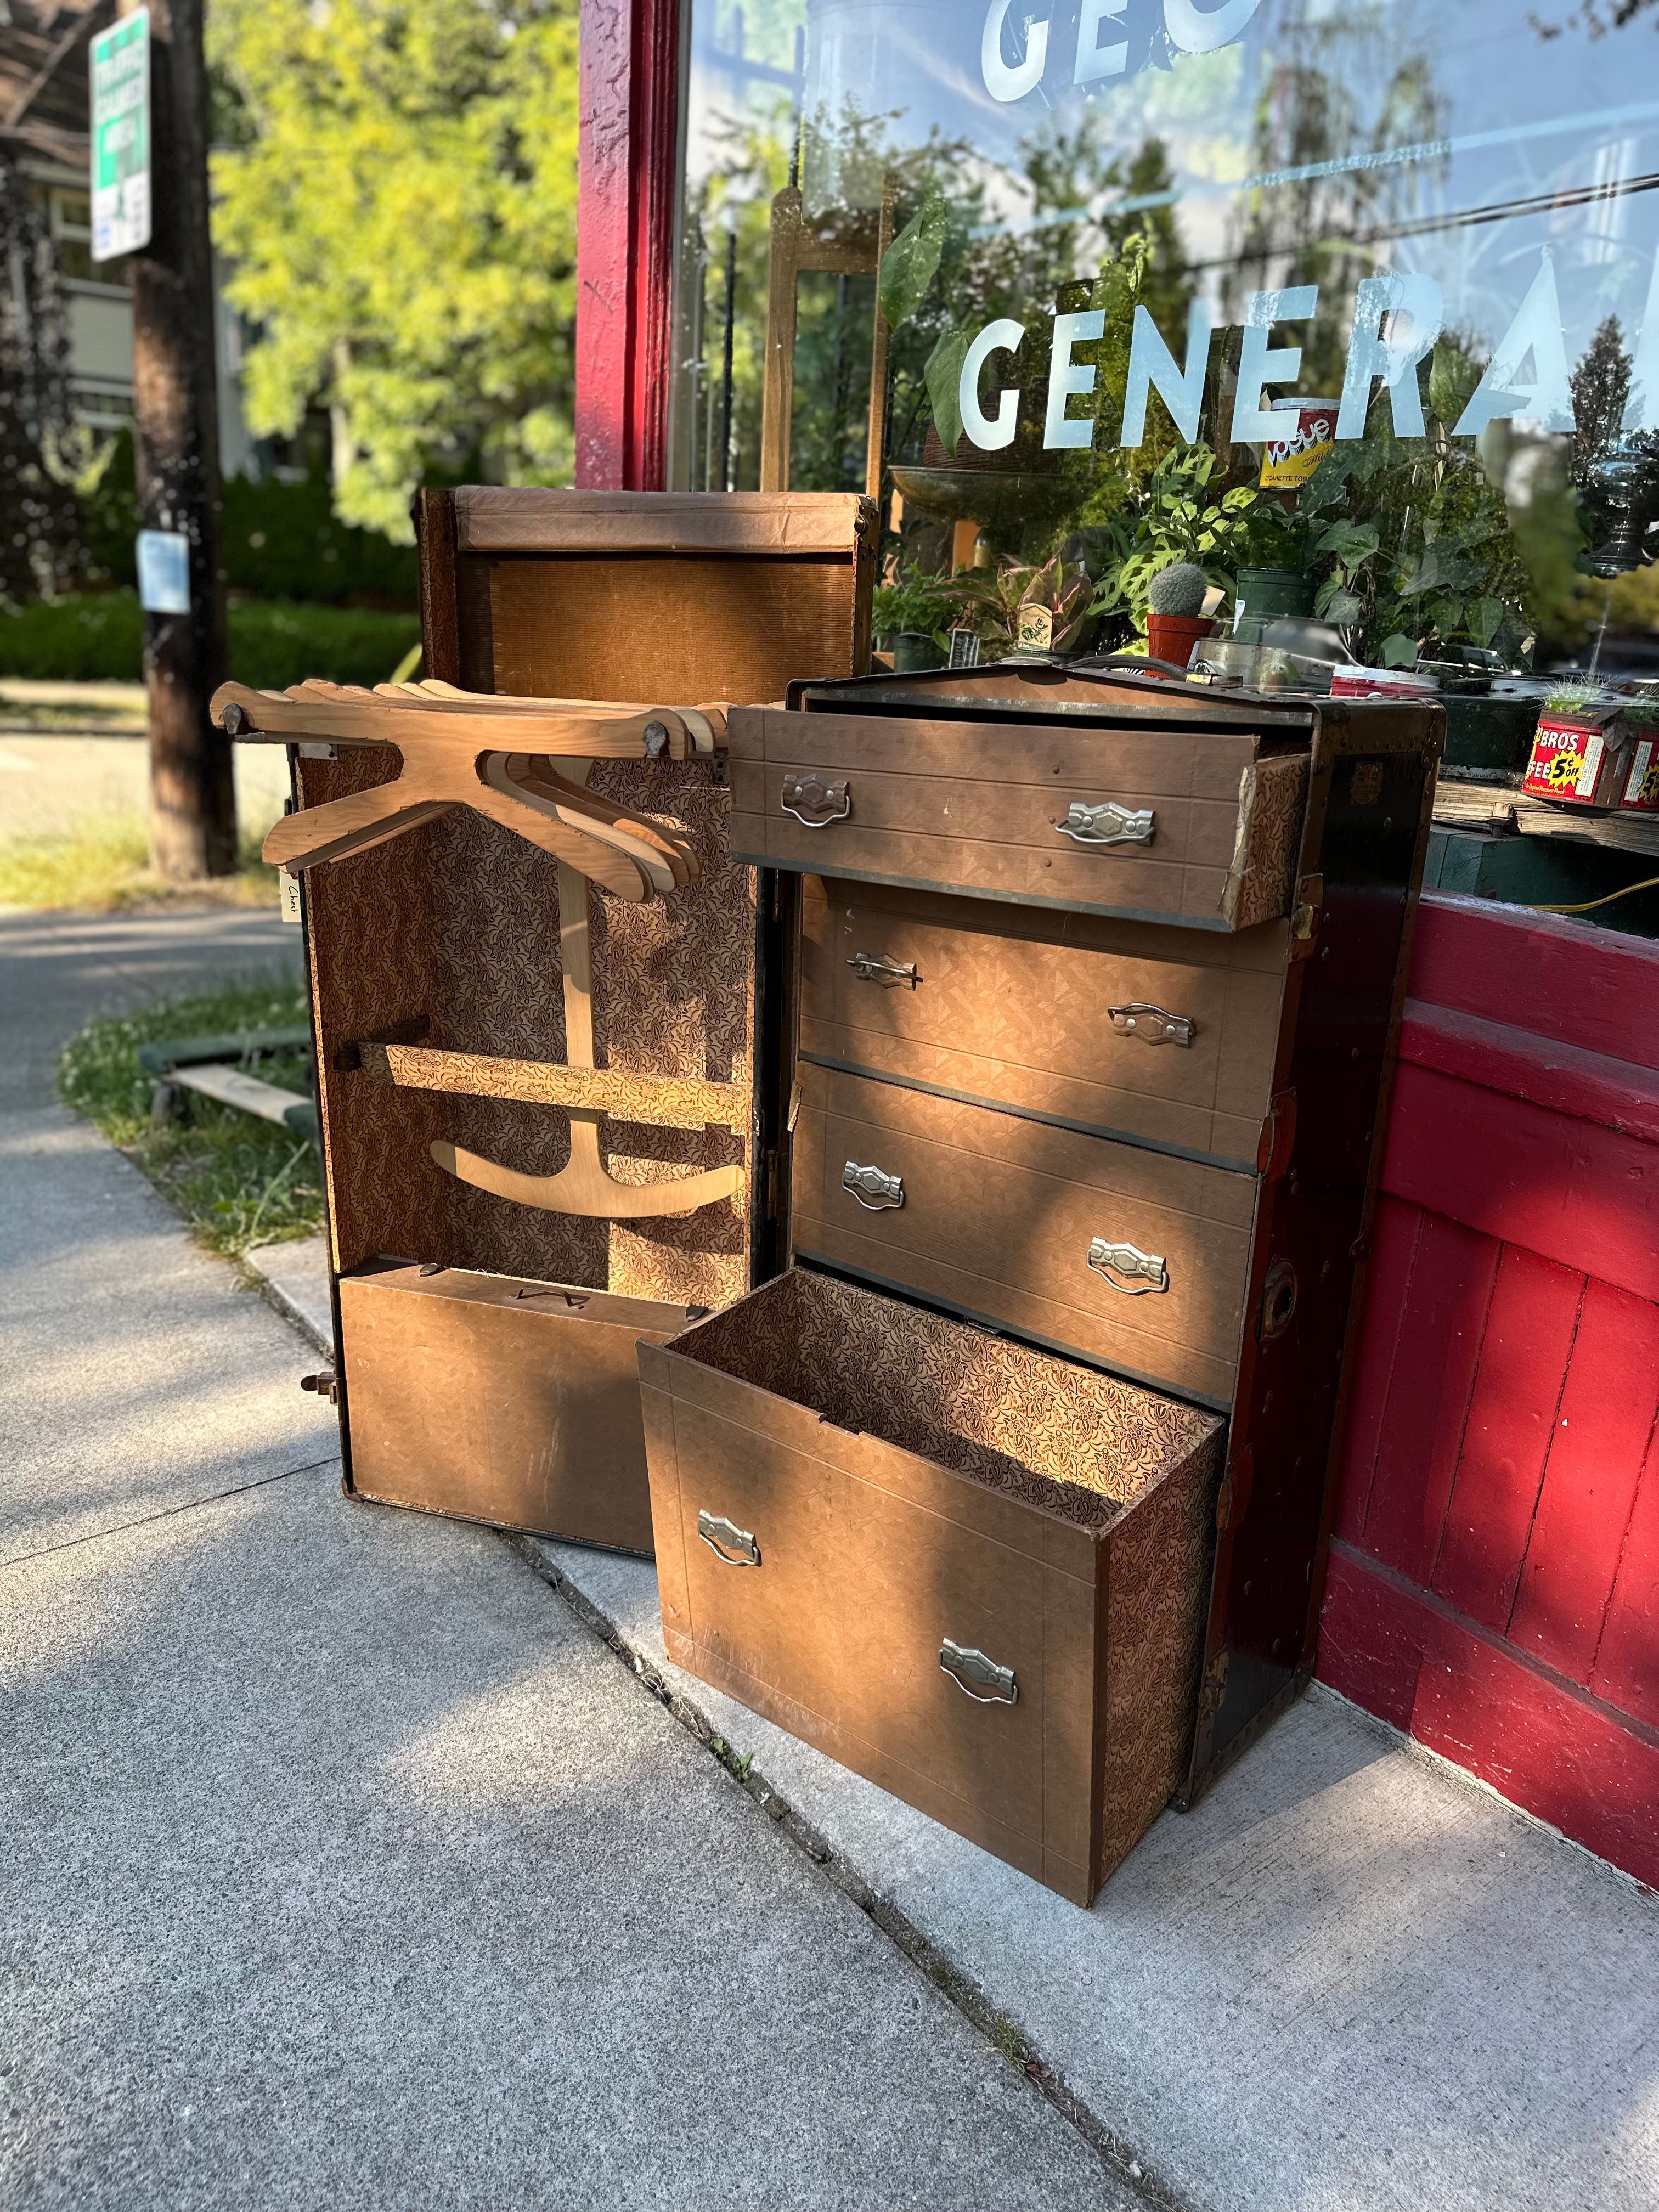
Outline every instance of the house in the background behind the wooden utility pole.
{"type": "MultiPolygon", "coordinates": [[[[75,414],[91,429],[133,420],[133,290],[126,261],[93,261],[86,51],[113,0],[0,0],[0,155],[35,192],[69,307],[75,414]]],[[[18,272],[4,281],[15,288],[18,272]]],[[[226,476],[303,476],[281,445],[252,440],[241,414],[241,319],[215,265],[219,467],[226,476]]]]}

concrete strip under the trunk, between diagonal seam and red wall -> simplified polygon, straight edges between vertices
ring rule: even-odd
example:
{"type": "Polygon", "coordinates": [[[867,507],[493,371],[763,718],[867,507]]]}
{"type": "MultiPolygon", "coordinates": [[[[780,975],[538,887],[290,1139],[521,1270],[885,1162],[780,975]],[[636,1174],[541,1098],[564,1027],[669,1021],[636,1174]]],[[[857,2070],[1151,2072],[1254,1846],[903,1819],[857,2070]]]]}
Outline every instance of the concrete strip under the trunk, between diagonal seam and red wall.
{"type": "MultiPolygon", "coordinates": [[[[327,1343],[316,1243],[261,1263],[327,1343]]],[[[1077,1913],[672,1666],[655,1571],[524,1540],[832,1878],[1206,2212],[1652,2212],[1659,1898],[1314,1688],[1077,1913]]]]}

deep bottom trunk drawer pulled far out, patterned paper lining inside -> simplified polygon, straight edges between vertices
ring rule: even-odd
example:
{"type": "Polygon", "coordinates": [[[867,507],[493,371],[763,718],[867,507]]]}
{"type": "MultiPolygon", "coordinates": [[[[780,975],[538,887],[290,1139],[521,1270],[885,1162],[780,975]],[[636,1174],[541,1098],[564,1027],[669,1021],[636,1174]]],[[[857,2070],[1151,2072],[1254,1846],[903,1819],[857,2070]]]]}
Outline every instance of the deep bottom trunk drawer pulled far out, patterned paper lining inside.
{"type": "Polygon", "coordinates": [[[1088,1905],[1183,1772],[1223,1425],[803,1270],[639,1376],[670,1657],[1088,1905]]]}

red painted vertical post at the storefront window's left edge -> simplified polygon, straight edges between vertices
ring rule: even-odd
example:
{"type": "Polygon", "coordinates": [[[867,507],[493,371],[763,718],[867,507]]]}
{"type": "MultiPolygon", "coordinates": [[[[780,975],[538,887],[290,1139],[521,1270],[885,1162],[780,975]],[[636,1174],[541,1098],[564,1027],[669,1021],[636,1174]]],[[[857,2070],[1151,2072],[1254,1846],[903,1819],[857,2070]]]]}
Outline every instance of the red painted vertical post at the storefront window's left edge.
{"type": "Polygon", "coordinates": [[[575,480],[661,491],[668,458],[679,0],[582,0],[575,480]]]}

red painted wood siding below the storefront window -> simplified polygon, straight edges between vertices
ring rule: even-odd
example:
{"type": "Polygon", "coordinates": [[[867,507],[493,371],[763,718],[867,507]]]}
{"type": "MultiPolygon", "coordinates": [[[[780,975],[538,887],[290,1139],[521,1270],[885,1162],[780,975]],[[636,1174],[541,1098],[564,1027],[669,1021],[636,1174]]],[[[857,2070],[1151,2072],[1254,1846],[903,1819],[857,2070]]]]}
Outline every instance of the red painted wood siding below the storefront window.
{"type": "Polygon", "coordinates": [[[1318,1674],[1659,1885],[1659,947],[1425,898],[1318,1674]]]}

